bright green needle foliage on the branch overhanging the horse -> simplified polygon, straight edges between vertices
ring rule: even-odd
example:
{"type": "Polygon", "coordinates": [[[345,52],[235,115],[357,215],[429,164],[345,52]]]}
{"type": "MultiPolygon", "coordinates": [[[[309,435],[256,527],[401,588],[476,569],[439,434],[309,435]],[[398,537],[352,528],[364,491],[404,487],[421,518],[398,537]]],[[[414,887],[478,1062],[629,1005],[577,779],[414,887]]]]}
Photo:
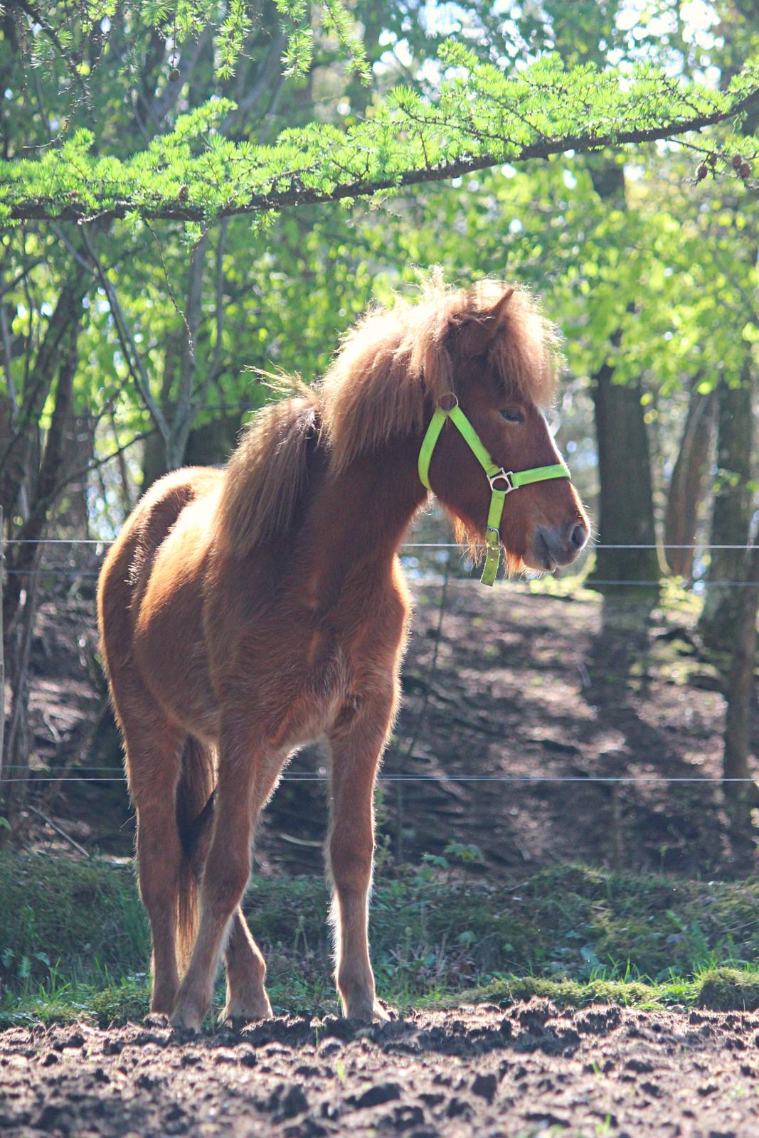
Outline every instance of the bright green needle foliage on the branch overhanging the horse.
{"type": "MultiPolygon", "coordinates": [[[[176,42],[183,34],[201,34],[209,8],[148,6],[148,16],[176,42]]],[[[302,8],[288,0],[278,3],[287,31],[282,65],[290,74],[312,61],[302,8]]],[[[116,14],[113,5],[89,5],[88,13],[91,26],[96,16],[125,24],[137,18],[131,6],[116,14]]],[[[365,76],[366,56],[345,6],[327,0],[321,18],[347,66],[365,76]]],[[[216,33],[216,74],[228,76],[250,33],[246,6],[232,3],[216,33]]],[[[90,65],[76,63],[71,33],[51,27],[49,38],[74,88],[90,65]]],[[[370,101],[346,129],[311,121],[282,131],[273,145],[226,137],[236,104],[220,97],[180,115],[167,133],[147,138],[129,156],[101,140],[96,143],[94,131],[75,127],[34,157],[0,163],[0,220],[135,216],[207,228],[233,214],[350,203],[506,162],[670,138],[736,118],[759,101],[756,58],[725,91],[674,79],[649,64],[567,65],[558,53],[505,71],[454,40],[444,42],[430,65],[438,76],[431,93],[396,85],[370,101]]],[[[91,93],[91,85],[82,88],[82,99],[91,93]]]]}

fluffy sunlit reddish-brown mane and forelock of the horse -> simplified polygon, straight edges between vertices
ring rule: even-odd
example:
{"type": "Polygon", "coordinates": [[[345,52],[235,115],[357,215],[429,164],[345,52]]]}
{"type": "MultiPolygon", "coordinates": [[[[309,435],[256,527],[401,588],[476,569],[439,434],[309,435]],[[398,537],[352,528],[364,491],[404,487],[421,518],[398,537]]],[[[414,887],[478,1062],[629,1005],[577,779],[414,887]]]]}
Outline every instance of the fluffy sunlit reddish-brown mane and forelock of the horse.
{"type": "Polygon", "coordinates": [[[218,537],[242,554],[289,529],[307,476],[308,440],[317,434],[330,469],[339,471],[388,439],[421,430],[437,403],[456,390],[456,352],[467,351],[467,329],[486,328],[510,291],[489,339],[489,374],[505,397],[550,403],[556,337],[531,294],[495,280],[449,289],[434,278],[416,303],[397,297],[370,308],[316,388],[282,378],[280,387],[297,395],[263,407],[246,427],[226,468],[218,537]]]}

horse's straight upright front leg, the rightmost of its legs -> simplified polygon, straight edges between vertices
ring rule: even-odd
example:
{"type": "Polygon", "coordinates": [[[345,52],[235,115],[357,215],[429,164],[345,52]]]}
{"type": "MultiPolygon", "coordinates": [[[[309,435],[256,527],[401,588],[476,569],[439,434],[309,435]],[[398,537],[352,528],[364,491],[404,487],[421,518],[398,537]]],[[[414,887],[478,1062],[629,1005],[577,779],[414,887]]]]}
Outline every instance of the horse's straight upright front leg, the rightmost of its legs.
{"type": "Polygon", "coordinates": [[[335,979],[349,1019],[387,1020],[369,957],[369,891],[374,858],[374,777],[393,720],[395,693],[346,707],[329,737],[332,764],[327,851],[332,880],[335,979]]]}

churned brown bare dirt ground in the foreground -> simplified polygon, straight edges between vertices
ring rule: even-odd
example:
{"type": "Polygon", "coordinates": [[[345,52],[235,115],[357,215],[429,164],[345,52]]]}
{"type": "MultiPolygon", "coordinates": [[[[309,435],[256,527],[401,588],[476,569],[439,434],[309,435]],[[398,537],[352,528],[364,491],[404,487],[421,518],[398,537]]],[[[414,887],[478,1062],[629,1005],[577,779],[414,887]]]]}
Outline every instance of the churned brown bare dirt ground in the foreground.
{"type": "Polygon", "coordinates": [[[759,1015],[533,999],[371,1028],[272,1020],[180,1038],[127,1024],[0,1034],[8,1136],[759,1133],[759,1015]]]}

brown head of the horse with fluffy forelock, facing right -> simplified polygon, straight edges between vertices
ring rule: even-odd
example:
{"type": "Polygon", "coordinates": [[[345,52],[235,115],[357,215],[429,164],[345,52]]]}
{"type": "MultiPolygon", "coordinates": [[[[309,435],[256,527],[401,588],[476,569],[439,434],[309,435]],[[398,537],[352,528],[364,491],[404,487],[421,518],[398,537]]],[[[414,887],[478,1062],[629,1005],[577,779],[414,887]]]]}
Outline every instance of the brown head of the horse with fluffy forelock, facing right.
{"type": "MultiPolygon", "coordinates": [[[[452,394],[495,467],[514,473],[551,467],[561,462],[542,410],[553,391],[552,329],[527,292],[501,287],[493,300],[493,288],[489,282],[485,302],[473,294],[471,310],[451,321],[452,394]]],[[[454,402],[440,405],[448,410],[454,402]]],[[[435,445],[429,477],[462,531],[481,539],[492,487],[453,422],[435,445]]],[[[506,485],[493,480],[493,488],[506,485]]],[[[552,570],[576,559],[588,522],[572,484],[559,477],[508,493],[498,531],[510,570],[552,570]]]]}

